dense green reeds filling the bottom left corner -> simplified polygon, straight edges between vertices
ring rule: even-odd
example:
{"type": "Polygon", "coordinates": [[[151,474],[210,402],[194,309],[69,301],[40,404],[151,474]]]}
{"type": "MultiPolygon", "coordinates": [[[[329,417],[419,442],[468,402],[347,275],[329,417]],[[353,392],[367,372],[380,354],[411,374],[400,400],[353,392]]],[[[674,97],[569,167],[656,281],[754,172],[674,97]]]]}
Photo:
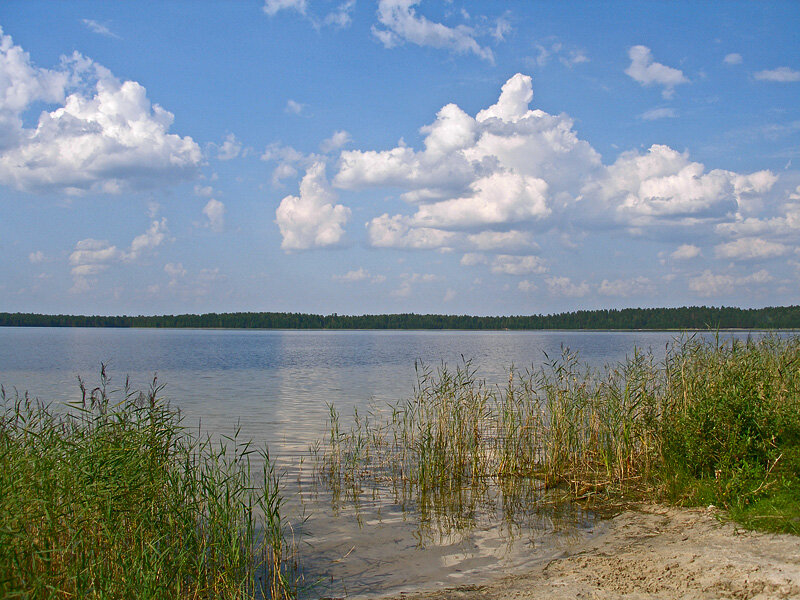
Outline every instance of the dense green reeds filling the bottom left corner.
{"type": "Polygon", "coordinates": [[[66,412],[3,390],[0,596],[293,595],[266,451],[189,435],[155,380],[109,383],[66,412]]]}

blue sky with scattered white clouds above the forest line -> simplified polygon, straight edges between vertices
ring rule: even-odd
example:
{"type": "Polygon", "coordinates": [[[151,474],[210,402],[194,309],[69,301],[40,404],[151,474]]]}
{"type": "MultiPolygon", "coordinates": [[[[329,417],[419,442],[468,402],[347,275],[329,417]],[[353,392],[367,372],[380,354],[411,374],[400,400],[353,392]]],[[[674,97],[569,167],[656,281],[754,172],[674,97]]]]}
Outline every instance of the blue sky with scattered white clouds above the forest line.
{"type": "Polygon", "coordinates": [[[0,3],[0,311],[800,304],[800,3],[0,3]]]}

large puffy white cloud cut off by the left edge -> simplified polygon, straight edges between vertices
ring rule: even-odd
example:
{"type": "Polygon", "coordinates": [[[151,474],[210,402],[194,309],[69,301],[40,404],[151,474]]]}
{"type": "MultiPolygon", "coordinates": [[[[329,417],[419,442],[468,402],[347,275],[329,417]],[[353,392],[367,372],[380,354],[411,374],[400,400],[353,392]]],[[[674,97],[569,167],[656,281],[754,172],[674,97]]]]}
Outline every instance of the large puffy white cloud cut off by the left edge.
{"type": "Polygon", "coordinates": [[[194,177],[202,153],[168,133],[172,119],[140,84],[77,53],[58,72],[34,68],[0,30],[0,183],[116,193],[194,177]],[[36,101],[60,106],[25,128],[21,115],[36,101]]]}

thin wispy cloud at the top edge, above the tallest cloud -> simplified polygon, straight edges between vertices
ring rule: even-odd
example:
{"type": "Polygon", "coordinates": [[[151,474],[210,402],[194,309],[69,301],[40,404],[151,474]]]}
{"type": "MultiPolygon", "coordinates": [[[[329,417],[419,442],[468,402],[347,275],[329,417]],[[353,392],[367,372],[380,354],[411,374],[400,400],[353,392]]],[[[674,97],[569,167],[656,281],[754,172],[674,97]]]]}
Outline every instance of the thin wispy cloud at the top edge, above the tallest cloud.
{"type": "Polygon", "coordinates": [[[494,62],[490,48],[482,47],[475,40],[475,32],[466,25],[447,27],[442,23],[429,21],[417,15],[414,7],[421,0],[380,0],[378,2],[378,21],[385,27],[372,27],[373,35],[386,48],[394,48],[403,42],[417,46],[429,46],[456,52],[472,53],[494,62]]]}

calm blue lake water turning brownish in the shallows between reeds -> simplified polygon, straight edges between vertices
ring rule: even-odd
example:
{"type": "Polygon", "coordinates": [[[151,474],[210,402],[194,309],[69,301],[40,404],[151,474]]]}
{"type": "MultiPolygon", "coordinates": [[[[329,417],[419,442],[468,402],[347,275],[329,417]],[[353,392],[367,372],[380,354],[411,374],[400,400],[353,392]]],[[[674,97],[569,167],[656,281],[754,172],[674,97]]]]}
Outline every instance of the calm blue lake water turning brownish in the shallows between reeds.
{"type": "Polygon", "coordinates": [[[359,596],[478,582],[547,560],[602,523],[574,507],[535,503],[517,507],[509,518],[496,489],[462,507],[469,513],[466,521],[454,514],[421,517],[389,490],[357,503],[310,490],[301,459],[325,435],[329,403],[347,416],[354,408],[363,412],[370,404],[408,398],[417,361],[455,366],[468,359],[488,383],[503,384],[512,365],[538,368],[562,347],[599,368],[624,360],[635,348],[662,358],[675,336],[0,328],[0,384],[43,401],[69,402],[80,399],[78,376],[87,387],[97,383],[101,362],[118,386],[127,375],[135,388],[146,390],[157,374],[187,424],[211,434],[239,427],[242,438],[269,446],[286,472],[286,513],[296,523],[307,581],[318,582],[307,595],[359,596]]]}

